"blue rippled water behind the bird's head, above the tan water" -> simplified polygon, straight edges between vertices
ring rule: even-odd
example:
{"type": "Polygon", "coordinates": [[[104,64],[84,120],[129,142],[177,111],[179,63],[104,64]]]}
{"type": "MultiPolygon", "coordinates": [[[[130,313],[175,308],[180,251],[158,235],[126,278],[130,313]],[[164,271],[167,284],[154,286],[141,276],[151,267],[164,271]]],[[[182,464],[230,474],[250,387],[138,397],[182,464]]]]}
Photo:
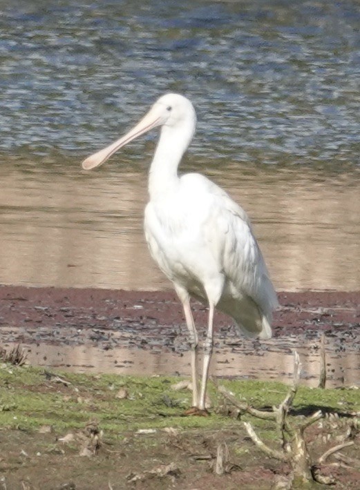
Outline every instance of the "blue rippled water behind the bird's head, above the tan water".
{"type": "MultiPolygon", "coordinates": [[[[1,141],[82,157],[169,90],[199,115],[191,153],[236,162],[359,164],[357,1],[1,2],[1,141]]],[[[133,144],[128,164],[140,161],[133,144]]]]}

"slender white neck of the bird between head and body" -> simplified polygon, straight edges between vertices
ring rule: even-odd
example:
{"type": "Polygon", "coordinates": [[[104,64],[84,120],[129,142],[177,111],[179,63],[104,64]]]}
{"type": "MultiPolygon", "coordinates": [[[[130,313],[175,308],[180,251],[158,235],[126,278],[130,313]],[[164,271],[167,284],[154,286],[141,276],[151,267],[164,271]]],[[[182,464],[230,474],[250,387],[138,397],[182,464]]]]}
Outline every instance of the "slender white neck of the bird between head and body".
{"type": "Polygon", "coordinates": [[[149,172],[149,195],[155,199],[178,188],[178,166],[193,137],[194,127],[163,126],[149,172]]]}

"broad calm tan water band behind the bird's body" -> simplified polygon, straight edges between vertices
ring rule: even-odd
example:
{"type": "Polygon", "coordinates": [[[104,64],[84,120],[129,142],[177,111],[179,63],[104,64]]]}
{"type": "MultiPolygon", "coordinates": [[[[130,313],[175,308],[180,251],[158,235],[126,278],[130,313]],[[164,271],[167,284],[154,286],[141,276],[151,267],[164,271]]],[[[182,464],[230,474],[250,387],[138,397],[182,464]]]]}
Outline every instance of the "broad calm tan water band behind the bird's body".
{"type": "MultiPolygon", "coordinates": [[[[3,284],[164,289],[142,231],[146,168],[3,175],[3,284]],[[109,171],[108,171],[109,170],[109,171]]],[[[247,210],[278,289],[357,290],[360,180],[229,166],[209,175],[247,210]]]]}

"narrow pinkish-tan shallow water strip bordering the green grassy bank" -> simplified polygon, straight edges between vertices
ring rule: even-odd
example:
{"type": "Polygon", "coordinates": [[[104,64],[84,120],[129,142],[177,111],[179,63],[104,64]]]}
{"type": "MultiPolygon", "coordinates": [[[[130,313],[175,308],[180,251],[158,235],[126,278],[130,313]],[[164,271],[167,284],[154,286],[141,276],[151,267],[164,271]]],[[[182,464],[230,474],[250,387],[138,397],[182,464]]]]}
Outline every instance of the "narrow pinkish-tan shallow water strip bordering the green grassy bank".
{"type": "MultiPolygon", "coordinates": [[[[294,372],[294,356],[290,349],[278,349],[278,340],[266,342],[267,351],[262,355],[251,352],[234,352],[229,349],[215,351],[211,359],[211,375],[236,377],[238,379],[260,379],[290,382],[294,372]]],[[[359,384],[359,354],[348,351],[346,355],[335,353],[331,340],[327,340],[327,386],[353,386],[359,384]]],[[[299,348],[299,338],[290,339],[290,344],[299,352],[302,365],[302,384],[319,384],[319,352],[314,351],[314,341],[299,348]]],[[[16,344],[6,344],[12,347],[16,344]]],[[[159,349],[157,352],[140,349],[115,348],[103,351],[93,346],[54,346],[34,344],[26,346],[28,362],[39,366],[58,368],[77,373],[117,373],[143,375],[189,376],[190,355],[171,353],[159,349]]]]}

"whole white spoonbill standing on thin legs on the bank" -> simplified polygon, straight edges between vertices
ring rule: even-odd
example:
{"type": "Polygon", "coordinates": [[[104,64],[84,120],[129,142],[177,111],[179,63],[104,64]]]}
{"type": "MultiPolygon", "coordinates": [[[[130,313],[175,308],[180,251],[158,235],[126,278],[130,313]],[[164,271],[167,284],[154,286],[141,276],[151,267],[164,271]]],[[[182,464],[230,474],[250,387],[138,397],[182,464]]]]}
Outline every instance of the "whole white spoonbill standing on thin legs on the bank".
{"type": "Polygon", "coordinates": [[[115,151],[155,126],[161,126],[161,132],[149,172],[145,237],[153,259],[182,302],[191,344],[193,407],[204,413],[214,344],[214,309],[233,317],[245,335],[268,339],[278,301],[245,211],[207,177],[198,173],[178,175],[178,165],[196,127],[196,112],[187,98],[178,94],[160,97],[129,133],[84,160],[83,168],[103,164],[115,151]],[[198,333],[191,296],[209,305],[200,396],[198,333]]]}

